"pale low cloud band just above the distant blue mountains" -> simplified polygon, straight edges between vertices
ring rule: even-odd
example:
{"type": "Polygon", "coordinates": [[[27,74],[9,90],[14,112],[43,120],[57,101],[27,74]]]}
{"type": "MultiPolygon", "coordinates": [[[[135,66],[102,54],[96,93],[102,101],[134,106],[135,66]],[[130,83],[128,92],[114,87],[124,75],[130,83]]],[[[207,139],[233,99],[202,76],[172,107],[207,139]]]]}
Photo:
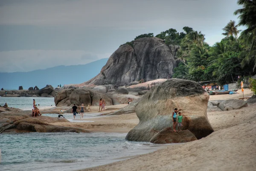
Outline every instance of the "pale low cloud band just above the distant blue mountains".
{"type": "Polygon", "coordinates": [[[87,64],[110,54],[81,50],[17,50],[0,52],[0,72],[28,72],[59,65],[87,64]]]}

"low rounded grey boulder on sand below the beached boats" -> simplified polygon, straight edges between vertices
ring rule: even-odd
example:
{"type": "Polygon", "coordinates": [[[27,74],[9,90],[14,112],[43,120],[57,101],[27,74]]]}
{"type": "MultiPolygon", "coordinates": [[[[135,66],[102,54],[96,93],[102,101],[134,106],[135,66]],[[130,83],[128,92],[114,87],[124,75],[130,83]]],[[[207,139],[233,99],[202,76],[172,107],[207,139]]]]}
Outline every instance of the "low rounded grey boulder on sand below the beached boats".
{"type": "Polygon", "coordinates": [[[218,105],[218,107],[223,111],[241,109],[242,107],[247,106],[248,104],[246,101],[239,99],[224,100],[218,105]]]}

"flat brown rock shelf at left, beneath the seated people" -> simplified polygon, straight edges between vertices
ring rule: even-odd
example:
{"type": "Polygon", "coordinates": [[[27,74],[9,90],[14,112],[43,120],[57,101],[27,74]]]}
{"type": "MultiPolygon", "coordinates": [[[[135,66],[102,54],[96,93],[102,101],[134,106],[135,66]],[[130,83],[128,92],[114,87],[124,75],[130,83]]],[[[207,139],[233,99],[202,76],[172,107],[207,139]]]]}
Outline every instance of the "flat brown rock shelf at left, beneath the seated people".
{"type": "Polygon", "coordinates": [[[51,125],[55,122],[69,122],[64,118],[53,118],[47,116],[31,117],[28,113],[0,113],[0,133],[22,133],[22,132],[90,132],[81,128],[62,127],[51,125]]]}

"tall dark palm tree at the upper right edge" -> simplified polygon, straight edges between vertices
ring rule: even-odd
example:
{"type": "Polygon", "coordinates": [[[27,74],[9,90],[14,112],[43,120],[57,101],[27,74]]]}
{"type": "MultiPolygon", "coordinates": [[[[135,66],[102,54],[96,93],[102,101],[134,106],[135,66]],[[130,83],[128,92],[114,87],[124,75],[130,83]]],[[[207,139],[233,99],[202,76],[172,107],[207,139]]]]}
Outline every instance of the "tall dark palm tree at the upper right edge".
{"type": "Polygon", "coordinates": [[[237,3],[242,5],[242,9],[238,9],[234,14],[239,15],[238,26],[247,26],[242,32],[247,41],[247,48],[245,48],[244,59],[241,62],[241,67],[250,64],[254,61],[253,72],[256,69],[256,0],[238,0],[237,3]]]}

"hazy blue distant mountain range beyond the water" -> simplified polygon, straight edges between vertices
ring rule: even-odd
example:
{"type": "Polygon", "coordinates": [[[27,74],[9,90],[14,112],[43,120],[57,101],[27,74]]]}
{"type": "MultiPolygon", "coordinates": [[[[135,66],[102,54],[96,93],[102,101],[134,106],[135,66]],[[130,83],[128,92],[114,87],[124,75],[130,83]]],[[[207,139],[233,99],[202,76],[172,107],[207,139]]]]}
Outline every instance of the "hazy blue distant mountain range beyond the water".
{"type": "Polygon", "coordinates": [[[0,89],[17,90],[19,86],[23,86],[23,89],[38,86],[41,89],[47,84],[53,87],[59,84],[79,84],[99,74],[107,61],[108,58],[103,58],[84,65],[61,65],[30,72],[0,72],[0,89]]]}

